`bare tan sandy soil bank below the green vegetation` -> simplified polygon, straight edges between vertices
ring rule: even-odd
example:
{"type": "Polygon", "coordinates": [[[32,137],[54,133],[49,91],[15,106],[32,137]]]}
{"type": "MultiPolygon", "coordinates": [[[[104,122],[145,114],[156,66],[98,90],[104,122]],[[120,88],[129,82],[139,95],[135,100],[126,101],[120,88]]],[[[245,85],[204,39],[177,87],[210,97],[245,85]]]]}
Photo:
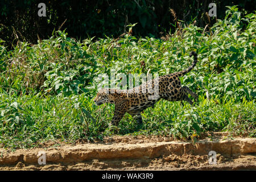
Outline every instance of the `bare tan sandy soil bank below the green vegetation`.
{"type": "MultiPolygon", "coordinates": [[[[0,170],[256,170],[256,139],[212,133],[193,144],[156,136],[115,136],[103,142],[46,142],[14,152],[0,148],[0,170]],[[216,151],[216,164],[209,164],[216,151]],[[38,163],[44,152],[46,164],[38,163]]],[[[43,161],[43,160],[42,160],[43,161]]]]}

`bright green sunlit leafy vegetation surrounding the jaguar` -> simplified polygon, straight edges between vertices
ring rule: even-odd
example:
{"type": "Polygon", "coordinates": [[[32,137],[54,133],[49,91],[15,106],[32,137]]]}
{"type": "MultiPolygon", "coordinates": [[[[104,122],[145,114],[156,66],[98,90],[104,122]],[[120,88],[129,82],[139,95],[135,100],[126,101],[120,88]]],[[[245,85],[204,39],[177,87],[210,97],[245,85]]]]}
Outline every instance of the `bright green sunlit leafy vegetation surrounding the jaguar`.
{"type": "Polygon", "coordinates": [[[165,39],[125,34],[77,41],[54,31],[47,40],[18,42],[11,51],[2,41],[0,143],[31,147],[51,139],[75,142],[114,134],[195,140],[207,131],[256,137],[256,14],[241,16],[232,6],[210,31],[183,26],[165,39]],[[142,126],[125,114],[117,133],[108,128],[114,106],[93,103],[102,73],[166,75],[191,65],[191,51],[199,61],[180,80],[199,95],[195,106],[161,100],[144,111],[142,126]]]}

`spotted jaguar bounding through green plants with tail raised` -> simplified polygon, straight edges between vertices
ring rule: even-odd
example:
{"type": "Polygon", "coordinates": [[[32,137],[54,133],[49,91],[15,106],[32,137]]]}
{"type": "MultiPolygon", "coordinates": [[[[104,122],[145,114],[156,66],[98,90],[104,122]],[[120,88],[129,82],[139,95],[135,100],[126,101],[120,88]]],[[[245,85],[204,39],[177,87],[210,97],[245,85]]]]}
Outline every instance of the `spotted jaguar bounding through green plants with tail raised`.
{"type": "Polygon", "coordinates": [[[192,105],[193,102],[187,94],[191,94],[195,98],[197,98],[197,95],[187,86],[181,87],[179,80],[179,77],[184,76],[195,67],[197,54],[192,51],[189,56],[192,55],[194,56],[193,64],[183,71],[160,76],[129,90],[101,89],[94,98],[94,102],[96,102],[96,105],[106,102],[115,104],[111,125],[118,125],[126,112],[133,116],[137,115],[137,122],[142,123],[141,112],[147,107],[154,106],[160,98],[168,101],[181,101],[181,103],[184,100],[192,105]],[[154,89],[158,90],[158,94],[154,92],[154,89]]]}

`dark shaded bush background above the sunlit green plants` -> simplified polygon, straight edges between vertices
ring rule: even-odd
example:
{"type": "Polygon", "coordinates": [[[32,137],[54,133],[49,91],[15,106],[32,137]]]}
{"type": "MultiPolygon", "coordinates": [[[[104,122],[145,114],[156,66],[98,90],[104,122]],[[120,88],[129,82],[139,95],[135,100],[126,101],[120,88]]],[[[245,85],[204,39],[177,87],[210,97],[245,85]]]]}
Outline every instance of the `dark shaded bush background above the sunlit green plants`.
{"type": "Polygon", "coordinates": [[[97,0],[97,1],[0,1],[0,38],[11,48],[17,40],[37,43],[38,38],[48,39],[53,29],[64,30],[73,38],[85,39],[88,36],[117,38],[126,30],[126,25],[138,23],[133,28],[134,36],[160,37],[175,32],[177,21],[192,22],[198,27],[210,27],[216,22],[209,18],[209,3],[217,5],[217,18],[225,16],[225,6],[239,5],[241,10],[253,13],[253,0],[205,0],[205,1],[162,1],[162,0],[97,0]],[[38,4],[46,4],[46,17],[38,16],[38,4]],[[170,9],[176,13],[176,20],[170,9]],[[64,23],[65,22],[65,23],[64,23]],[[63,24],[64,23],[64,24],[63,24]]]}

